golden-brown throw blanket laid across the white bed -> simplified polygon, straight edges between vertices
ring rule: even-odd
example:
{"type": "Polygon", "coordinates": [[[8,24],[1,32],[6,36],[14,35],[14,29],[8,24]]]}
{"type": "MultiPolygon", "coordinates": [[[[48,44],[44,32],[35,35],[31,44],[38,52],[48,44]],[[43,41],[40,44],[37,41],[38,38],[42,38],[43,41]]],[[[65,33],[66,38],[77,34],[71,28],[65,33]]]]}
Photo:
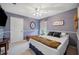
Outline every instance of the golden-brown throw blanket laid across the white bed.
{"type": "Polygon", "coordinates": [[[47,45],[51,48],[55,48],[57,49],[57,47],[61,44],[60,42],[54,41],[54,40],[50,40],[44,37],[39,37],[39,36],[31,36],[30,38],[32,38],[33,40],[36,40],[38,42],[41,42],[44,45],[47,45]]]}

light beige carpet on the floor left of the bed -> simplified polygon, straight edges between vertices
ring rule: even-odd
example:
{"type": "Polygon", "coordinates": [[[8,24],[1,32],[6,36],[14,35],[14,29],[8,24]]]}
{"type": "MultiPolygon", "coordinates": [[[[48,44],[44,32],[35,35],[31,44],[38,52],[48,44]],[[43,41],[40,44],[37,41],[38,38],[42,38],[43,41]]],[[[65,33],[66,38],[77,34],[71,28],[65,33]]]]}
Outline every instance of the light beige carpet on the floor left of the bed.
{"type": "Polygon", "coordinates": [[[35,53],[29,48],[29,42],[23,40],[11,43],[8,55],[35,55],[35,53]]]}

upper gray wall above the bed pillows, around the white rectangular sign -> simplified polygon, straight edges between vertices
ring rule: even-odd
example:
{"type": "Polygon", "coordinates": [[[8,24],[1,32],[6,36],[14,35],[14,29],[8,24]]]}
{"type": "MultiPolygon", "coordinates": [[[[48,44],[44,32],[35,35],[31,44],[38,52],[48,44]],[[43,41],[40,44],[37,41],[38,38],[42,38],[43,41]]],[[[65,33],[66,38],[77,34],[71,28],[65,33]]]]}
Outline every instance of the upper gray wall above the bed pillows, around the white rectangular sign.
{"type": "Polygon", "coordinates": [[[74,32],[74,15],[77,13],[77,9],[66,11],[51,17],[47,20],[48,31],[66,31],[74,32]],[[54,26],[52,23],[56,20],[63,20],[63,26],[54,26]]]}

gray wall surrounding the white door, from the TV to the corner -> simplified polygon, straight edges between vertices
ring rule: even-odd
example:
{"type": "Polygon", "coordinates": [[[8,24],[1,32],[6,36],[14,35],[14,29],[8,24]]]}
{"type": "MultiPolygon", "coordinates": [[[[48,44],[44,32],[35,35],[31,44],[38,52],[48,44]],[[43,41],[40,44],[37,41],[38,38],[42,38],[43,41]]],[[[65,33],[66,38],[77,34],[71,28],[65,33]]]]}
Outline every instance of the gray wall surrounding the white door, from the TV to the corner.
{"type": "Polygon", "coordinates": [[[35,20],[33,18],[28,18],[26,16],[22,16],[22,15],[18,15],[18,14],[13,14],[13,13],[9,13],[6,12],[8,19],[7,19],[7,23],[6,26],[3,28],[4,29],[4,37],[5,38],[9,38],[10,37],[10,17],[19,17],[19,18],[23,18],[24,19],[24,36],[26,35],[38,35],[38,30],[39,30],[39,20],[35,20]],[[36,28],[35,29],[30,29],[30,22],[34,21],[36,23],[36,28]]]}

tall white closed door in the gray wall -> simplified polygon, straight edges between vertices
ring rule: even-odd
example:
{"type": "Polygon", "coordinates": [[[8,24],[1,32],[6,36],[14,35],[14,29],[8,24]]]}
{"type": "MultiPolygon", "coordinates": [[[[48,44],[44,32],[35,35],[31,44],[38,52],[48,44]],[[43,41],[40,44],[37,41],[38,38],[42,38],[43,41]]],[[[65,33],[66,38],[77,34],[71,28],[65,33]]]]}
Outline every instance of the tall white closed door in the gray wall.
{"type": "Polygon", "coordinates": [[[10,33],[11,43],[23,40],[23,21],[24,19],[18,17],[11,17],[10,33]]]}

